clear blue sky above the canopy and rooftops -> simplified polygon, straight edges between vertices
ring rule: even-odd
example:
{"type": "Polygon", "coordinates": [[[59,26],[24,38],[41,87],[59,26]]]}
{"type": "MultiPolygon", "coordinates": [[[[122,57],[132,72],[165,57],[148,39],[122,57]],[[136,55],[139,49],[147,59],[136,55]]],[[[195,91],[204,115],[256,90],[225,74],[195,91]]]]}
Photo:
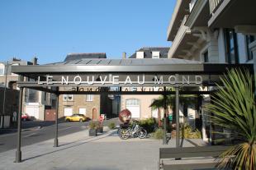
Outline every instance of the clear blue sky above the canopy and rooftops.
{"type": "Polygon", "coordinates": [[[1,0],[0,61],[40,64],[67,53],[128,56],[141,47],[169,47],[174,0],[1,0]]]}

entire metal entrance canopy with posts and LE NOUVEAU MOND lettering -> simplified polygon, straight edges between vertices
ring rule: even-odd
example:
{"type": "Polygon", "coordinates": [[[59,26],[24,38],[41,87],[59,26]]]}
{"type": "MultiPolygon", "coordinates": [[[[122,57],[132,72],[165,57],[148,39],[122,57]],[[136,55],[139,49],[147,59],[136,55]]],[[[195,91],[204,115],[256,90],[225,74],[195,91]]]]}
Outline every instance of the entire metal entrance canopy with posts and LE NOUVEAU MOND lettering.
{"type": "MultiPolygon", "coordinates": [[[[179,94],[211,94],[199,91],[200,86],[215,86],[220,77],[233,67],[248,68],[253,64],[229,65],[203,63],[182,59],[78,59],[36,66],[13,66],[12,72],[20,76],[20,104],[17,126],[16,162],[21,162],[21,111],[24,88],[41,90],[57,95],[55,117],[55,147],[58,147],[59,94],[175,94],[176,117],[179,117],[179,94]],[[138,87],[137,91],[126,90],[138,87]],[[154,91],[145,89],[159,87],[154,91]],[[175,87],[175,91],[168,90],[175,87]],[[186,90],[180,90],[185,88],[186,90]],[[115,90],[113,90],[115,89],[115,90]]],[[[166,110],[164,111],[166,120],[166,110]]],[[[179,119],[176,119],[179,125],[179,119]]],[[[166,132],[166,121],[164,121],[166,132]]],[[[179,147],[179,126],[176,146],[179,147]]],[[[166,136],[164,136],[166,144],[166,136]]]]}

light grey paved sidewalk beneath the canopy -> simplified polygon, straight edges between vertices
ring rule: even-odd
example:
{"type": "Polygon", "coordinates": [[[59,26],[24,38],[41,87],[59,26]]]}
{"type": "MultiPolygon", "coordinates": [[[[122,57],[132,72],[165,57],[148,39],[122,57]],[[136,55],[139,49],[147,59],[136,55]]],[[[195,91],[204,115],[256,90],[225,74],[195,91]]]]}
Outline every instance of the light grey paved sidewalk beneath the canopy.
{"type": "MultiPolygon", "coordinates": [[[[175,139],[169,145],[162,140],[121,140],[116,130],[108,130],[101,136],[90,137],[88,130],[59,137],[59,147],[54,140],[46,140],[21,148],[22,163],[13,163],[16,150],[0,154],[1,170],[155,170],[159,159],[159,147],[175,147],[175,139]]],[[[197,141],[196,141],[197,142],[197,141]]],[[[193,146],[184,140],[184,147],[193,146]]]]}

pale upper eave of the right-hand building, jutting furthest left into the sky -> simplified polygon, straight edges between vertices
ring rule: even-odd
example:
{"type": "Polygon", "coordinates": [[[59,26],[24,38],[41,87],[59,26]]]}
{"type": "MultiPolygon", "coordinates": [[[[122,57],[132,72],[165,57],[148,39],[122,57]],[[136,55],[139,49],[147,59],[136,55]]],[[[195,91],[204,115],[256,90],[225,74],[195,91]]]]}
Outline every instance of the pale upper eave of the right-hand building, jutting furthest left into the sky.
{"type": "Polygon", "coordinates": [[[189,14],[189,2],[191,0],[177,0],[176,6],[173,11],[172,19],[168,25],[167,39],[173,41],[175,35],[178,32],[179,26],[181,25],[185,15],[189,14]]]}

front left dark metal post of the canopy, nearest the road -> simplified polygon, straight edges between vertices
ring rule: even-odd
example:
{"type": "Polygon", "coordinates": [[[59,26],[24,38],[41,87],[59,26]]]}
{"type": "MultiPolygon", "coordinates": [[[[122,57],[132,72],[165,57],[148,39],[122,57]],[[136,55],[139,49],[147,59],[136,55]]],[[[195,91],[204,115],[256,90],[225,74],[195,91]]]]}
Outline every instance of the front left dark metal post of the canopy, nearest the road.
{"type": "Polygon", "coordinates": [[[21,163],[21,113],[22,113],[22,96],[23,87],[20,88],[19,96],[19,112],[18,112],[18,124],[17,124],[17,151],[15,163],[21,163]]]}

